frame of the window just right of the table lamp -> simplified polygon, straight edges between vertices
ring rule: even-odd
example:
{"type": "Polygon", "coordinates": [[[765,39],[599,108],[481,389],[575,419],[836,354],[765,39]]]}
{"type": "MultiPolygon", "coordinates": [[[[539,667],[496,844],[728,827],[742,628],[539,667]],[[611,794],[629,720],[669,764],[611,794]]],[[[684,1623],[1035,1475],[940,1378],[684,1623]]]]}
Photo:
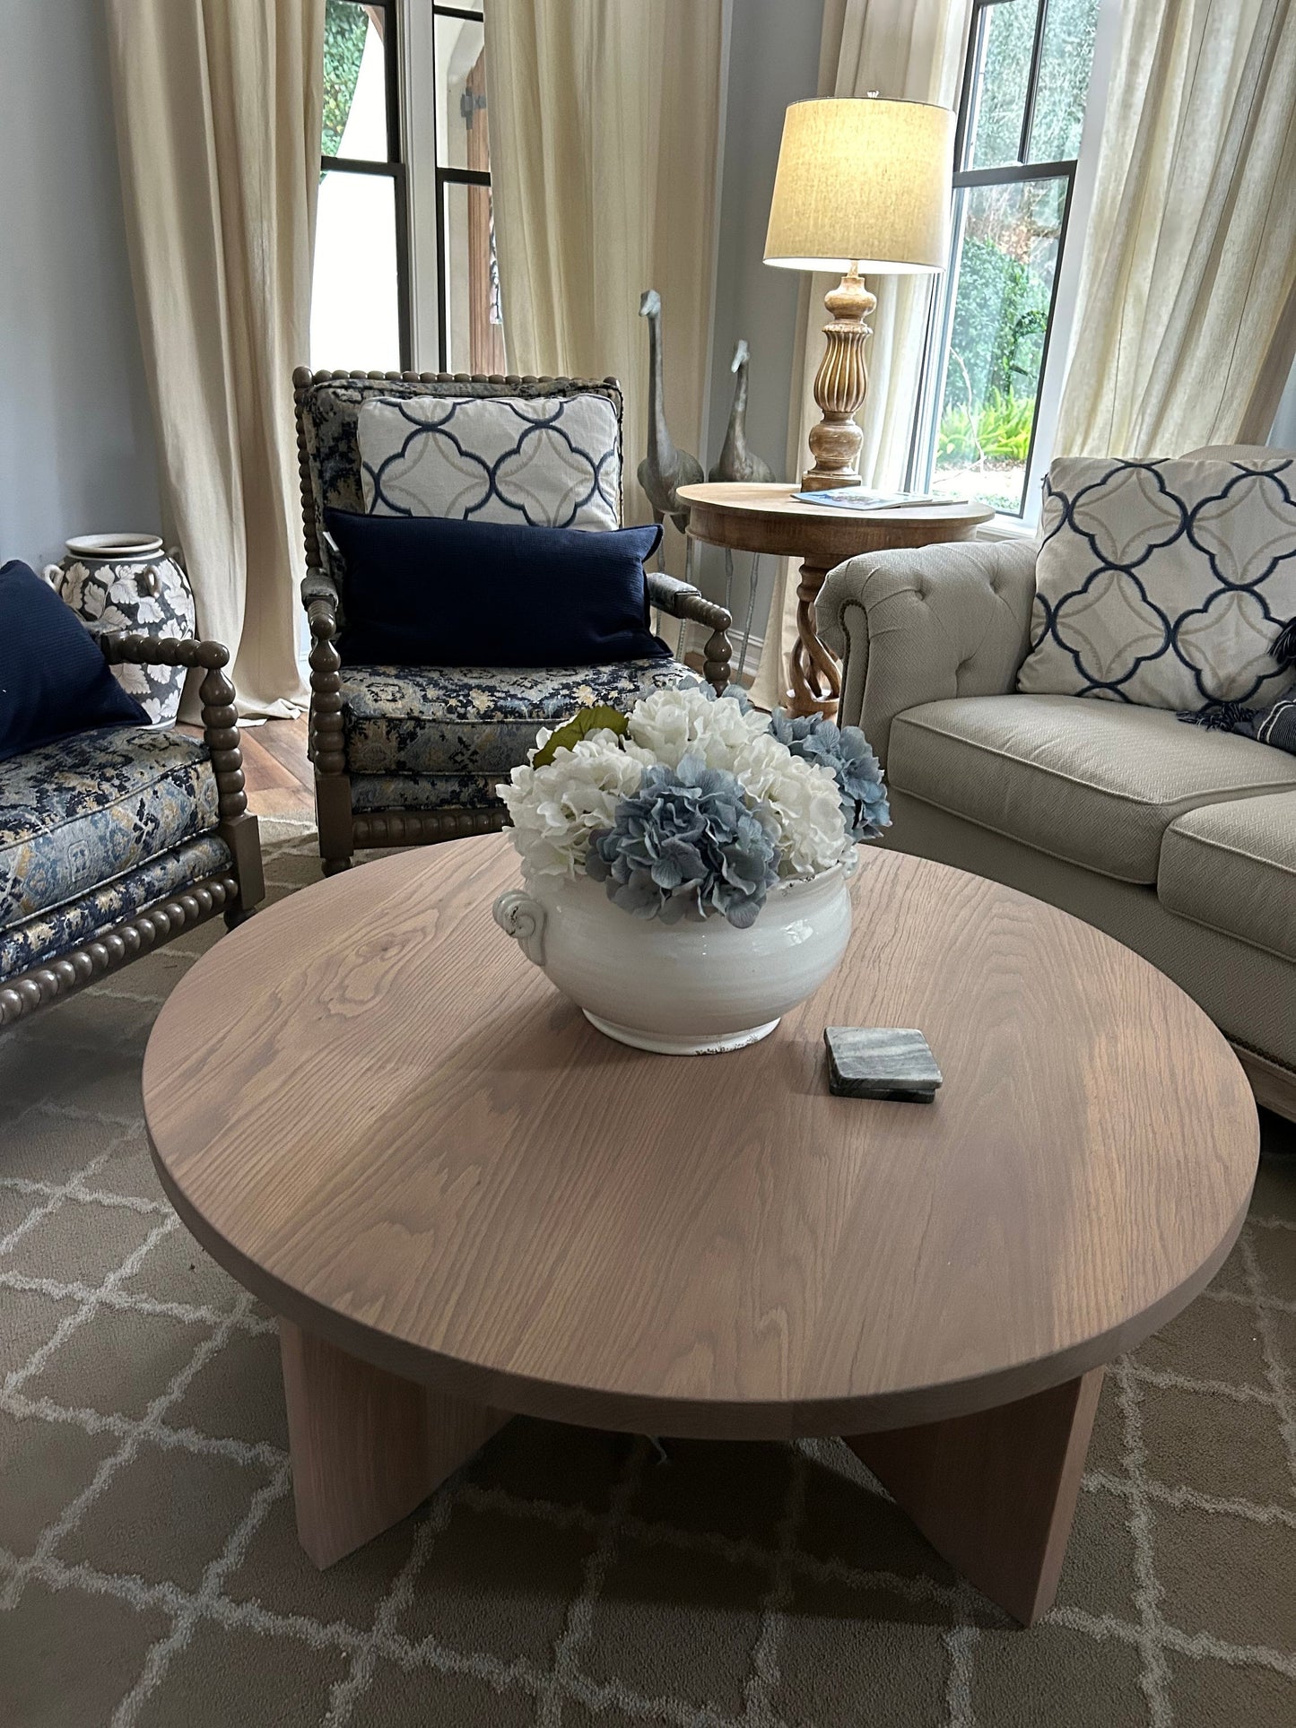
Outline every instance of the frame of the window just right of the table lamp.
{"type": "MultiPolygon", "coordinates": [[[[1066,237],[1075,200],[1075,176],[1080,162],[1078,154],[1063,161],[1030,162],[1030,135],[1035,124],[1035,105],[1039,102],[1040,66],[1044,60],[1044,41],[1049,22],[1049,0],[1035,0],[1035,33],[1032,38],[1030,67],[1026,73],[1026,92],[1021,107],[1021,133],[1018,138],[1016,162],[1002,162],[994,168],[969,168],[973,140],[976,137],[976,105],[982,93],[982,74],[985,71],[987,24],[988,14],[997,5],[1009,0],[973,0],[971,22],[968,29],[968,54],[962,62],[962,83],[959,88],[959,112],[954,130],[954,207],[950,221],[950,252],[945,268],[943,290],[933,294],[928,323],[928,340],[923,359],[923,377],[918,391],[918,413],[914,416],[914,435],[909,448],[907,486],[930,486],[937,470],[937,434],[940,429],[940,408],[945,399],[945,377],[949,372],[949,349],[954,325],[954,309],[959,292],[959,254],[962,249],[962,194],[975,187],[1007,187],[1030,180],[1064,180],[1063,216],[1058,226],[1058,257],[1052,273],[1052,292],[1049,294],[1049,321],[1044,330],[1040,347],[1040,372],[1035,384],[1035,411],[1030,422],[1030,446],[1026,449],[1026,467],[1021,479],[1021,498],[1014,511],[999,511],[1016,520],[1026,515],[1026,494],[1030,487],[1032,467],[1035,461],[1035,439],[1039,435],[1039,410],[1044,394],[1044,378],[1049,372],[1049,351],[1052,346],[1054,323],[1058,314],[1058,285],[1063,276],[1063,257],[1066,256],[1066,237]]],[[[1021,0],[1018,0],[1021,3],[1021,0]]],[[[1092,88],[1092,85],[1090,85],[1092,88]]]]}

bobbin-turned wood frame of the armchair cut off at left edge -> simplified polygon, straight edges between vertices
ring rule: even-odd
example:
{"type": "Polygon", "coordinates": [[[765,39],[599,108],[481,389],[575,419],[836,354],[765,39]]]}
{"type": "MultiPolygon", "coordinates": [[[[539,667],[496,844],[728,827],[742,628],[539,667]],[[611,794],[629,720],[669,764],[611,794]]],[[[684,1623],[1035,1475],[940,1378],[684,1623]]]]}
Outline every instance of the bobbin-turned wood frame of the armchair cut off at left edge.
{"type": "Polygon", "coordinates": [[[14,1025],[50,1002],[74,995],[98,978],[171,942],[183,930],[204,924],[218,912],[223,912],[226,926],[233,928],[251,918],[266,893],[257,821],[247,809],[244,791],[235,688],[225,672],[230,650],[216,641],[135,632],[104,634],[98,645],[109,665],[183,665],[206,670],[199,700],[202,738],[216,774],[219,821],[214,833],[230,848],[232,864],[230,869],[204,876],[98,931],[92,940],[0,983],[0,1026],[14,1025]]]}

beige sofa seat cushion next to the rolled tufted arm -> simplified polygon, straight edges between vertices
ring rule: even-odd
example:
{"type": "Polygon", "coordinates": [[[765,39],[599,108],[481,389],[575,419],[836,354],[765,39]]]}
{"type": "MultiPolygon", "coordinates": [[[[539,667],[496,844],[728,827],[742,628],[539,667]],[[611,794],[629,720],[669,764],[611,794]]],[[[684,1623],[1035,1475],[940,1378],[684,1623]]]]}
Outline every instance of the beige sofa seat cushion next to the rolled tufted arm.
{"type": "Polygon", "coordinates": [[[1163,708],[1077,696],[956,696],[897,715],[897,791],[1120,881],[1154,883],[1185,810],[1296,788],[1296,759],[1163,708]]]}

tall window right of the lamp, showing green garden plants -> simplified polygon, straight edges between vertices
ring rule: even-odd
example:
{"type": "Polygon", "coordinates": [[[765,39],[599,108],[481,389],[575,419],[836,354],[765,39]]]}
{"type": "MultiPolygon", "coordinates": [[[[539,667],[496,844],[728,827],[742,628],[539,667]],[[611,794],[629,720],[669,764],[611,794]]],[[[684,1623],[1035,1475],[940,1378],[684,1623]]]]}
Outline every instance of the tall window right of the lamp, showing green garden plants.
{"type": "Polygon", "coordinates": [[[912,482],[1021,517],[1066,347],[1059,282],[1104,0],[973,7],[912,482]]]}

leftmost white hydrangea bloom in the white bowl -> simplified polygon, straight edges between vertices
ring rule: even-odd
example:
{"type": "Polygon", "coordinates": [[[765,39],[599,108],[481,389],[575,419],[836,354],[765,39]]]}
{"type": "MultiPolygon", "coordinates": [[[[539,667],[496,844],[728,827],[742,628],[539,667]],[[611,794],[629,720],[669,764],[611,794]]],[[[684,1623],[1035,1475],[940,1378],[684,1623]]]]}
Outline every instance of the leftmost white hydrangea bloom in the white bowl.
{"type": "MultiPolygon", "coordinates": [[[[539,734],[537,748],[546,736],[539,734]]],[[[508,785],[496,791],[508,805],[524,871],[530,876],[582,871],[589,836],[612,828],[620,800],[639,790],[643,767],[641,753],[622,750],[610,731],[589,733],[572,750],[558,750],[544,767],[515,767],[508,785]]]]}

